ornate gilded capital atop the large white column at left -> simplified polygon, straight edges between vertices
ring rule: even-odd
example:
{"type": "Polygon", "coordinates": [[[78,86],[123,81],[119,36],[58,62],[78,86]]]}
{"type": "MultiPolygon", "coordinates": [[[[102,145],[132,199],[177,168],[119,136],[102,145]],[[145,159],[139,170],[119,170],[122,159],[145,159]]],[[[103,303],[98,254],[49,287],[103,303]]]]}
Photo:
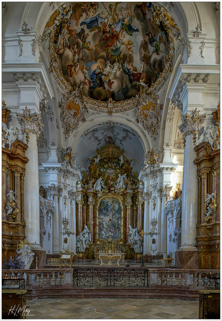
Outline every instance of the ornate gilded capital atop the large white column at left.
{"type": "Polygon", "coordinates": [[[29,133],[36,135],[36,142],[38,146],[39,134],[43,130],[44,125],[41,124],[41,114],[30,114],[30,109],[27,107],[23,110],[23,114],[16,113],[18,121],[22,125],[22,134],[26,133],[26,143],[29,142],[29,133]]]}

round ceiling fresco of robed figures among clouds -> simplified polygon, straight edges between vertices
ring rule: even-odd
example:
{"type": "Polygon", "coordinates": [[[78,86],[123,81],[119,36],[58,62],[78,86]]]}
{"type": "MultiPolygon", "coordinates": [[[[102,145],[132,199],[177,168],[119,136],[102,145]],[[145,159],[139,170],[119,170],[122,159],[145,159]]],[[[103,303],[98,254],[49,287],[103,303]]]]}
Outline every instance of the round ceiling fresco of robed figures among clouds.
{"type": "Polygon", "coordinates": [[[72,87],[84,83],[86,97],[130,99],[138,82],[151,87],[169,70],[169,31],[177,26],[161,5],[74,2],[64,10],[53,28],[53,61],[72,87]]]}

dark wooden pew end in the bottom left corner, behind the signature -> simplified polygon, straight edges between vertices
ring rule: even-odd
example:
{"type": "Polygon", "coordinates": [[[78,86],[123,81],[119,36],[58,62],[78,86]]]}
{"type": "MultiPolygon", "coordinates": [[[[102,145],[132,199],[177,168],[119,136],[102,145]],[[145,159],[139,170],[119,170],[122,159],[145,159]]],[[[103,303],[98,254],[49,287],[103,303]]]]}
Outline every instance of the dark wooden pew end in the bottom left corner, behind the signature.
{"type": "Polygon", "coordinates": [[[2,319],[26,319],[27,292],[26,290],[2,291],[2,319]]]}

